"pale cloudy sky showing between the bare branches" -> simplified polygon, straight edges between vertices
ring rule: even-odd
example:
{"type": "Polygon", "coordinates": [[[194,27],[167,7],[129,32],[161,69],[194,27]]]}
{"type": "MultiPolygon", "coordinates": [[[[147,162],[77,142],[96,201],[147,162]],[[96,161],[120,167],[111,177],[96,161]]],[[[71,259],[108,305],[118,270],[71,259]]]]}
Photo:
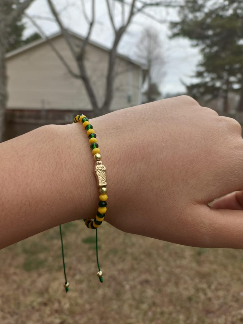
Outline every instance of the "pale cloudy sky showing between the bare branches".
{"type": "MultiPolygon", "coordinates": [[[[127,1],[129,2],[129,0],[127,1]]],[[[87,32],[87,23],[82,13],[81,0],[53,0],[53,3],[59,13],[61,13],[64,25],[84,36],[87,32]]],[[[91,13],[91,0],[84,0],[84,3],[87,14],[89,15],[91,13]]],[[[118,1],[114,0],[110,0],[110,3],[116,17],[115,24],[119,26],[121,17],[120,4],[118,1]]],[[[165,76],[159,86],[160,91],[162,95],[184,92],[185,87],[180,80],[186,83],[193,81],[191,75],[194,74],[196,64],[200,60],[200,53],[196,48],[191,47],[190,41],[187,39],[169,39],[170,30],[168,21],[177,19],[177,12],[175,9],[147,8],[145,12],[155,17],[156,20],[164,21],[164,23],[159,23],[155,21],[155,19],[143,14],[137,14],[121,39],[118,52],[135,59],[135,45],[140,38],[143,28],[148,26],[157,29],[161,38],[162,53],[165,60],[165,76]]],[[[27,10],[27,13],[31,17],[35,17],[35,20],[46,34],[50,35],[59,30],[56,23],[52,21],[52,14],[47,6],[46,0],[35,0],[27,10]]],[[[96,23],[91,34],[91,39],[101,45],[110,47],[113,39],[113,31],[105,0],[96,1],[95,21],[96,23]]],[[[28,19],[25,19],[25,22],[27,26],[25,36],[28,36],[36,31],[36,29],[28,19]]]]}

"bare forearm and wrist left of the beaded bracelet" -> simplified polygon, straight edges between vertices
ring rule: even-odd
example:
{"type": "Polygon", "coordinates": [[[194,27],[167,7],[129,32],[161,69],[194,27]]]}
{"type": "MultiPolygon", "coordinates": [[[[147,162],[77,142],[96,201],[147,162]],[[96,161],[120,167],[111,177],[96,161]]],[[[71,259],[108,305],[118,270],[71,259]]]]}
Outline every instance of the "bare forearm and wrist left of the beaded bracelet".
{"type": "Polygon", "coordinates": [[[0,144],[0,248],[94,218],[94,159],[81,124],[47,125],[0,144]]]}

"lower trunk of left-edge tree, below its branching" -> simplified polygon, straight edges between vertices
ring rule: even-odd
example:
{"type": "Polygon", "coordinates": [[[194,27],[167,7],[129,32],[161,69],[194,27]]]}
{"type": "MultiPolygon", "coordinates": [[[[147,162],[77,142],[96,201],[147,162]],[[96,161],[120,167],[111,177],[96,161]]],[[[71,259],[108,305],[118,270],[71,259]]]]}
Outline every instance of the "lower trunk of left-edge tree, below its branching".
{"type": "Polygon", "coordinates": [[[3,135],[6,127],[7,75],[5,54],[4,37],[0,35],[0,143],[4,141],[3,135]]]}

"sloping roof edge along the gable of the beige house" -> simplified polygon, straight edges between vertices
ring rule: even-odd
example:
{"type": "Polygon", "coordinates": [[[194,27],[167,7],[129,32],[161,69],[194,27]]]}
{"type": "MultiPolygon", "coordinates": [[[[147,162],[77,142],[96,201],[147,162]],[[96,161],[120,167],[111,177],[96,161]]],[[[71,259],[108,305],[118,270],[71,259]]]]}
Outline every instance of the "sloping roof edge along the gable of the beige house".
{"type": "MultiPolygon", "coordinates": [[[[73,36],[79,38],[79,39],[82,40],[82,41],[85,40],[85,38],[84,38],[83,36],[78,35],[78,34],[76,34],[75,32],[73,32],[73,31],[71,31],[71,30],[68,30],[68,33],[69,33],[70,35],[73,35],[73,36]]],[[[54,38],[59,37],[59,36],[61,36],[61,35],[62,35],[62,32],[58,32],[58,33],[52,34],[51,36],[48,36],[48,39],[54,39],[54,38]]],[[[37,41],[32,41],[32,42],[30,42],[30,43],[27,44],[27,45],[21,46],[21,47],[17,48],[16,50],[13,50],[13,51],[11,51],[11,52],[8,52],[8,53],[6,54],[6,58],[8,59],[8,58],[10,58],[10,57],[13,57],[13,56],[15,56],[15,55],[17,55],[17,54],[20,54],[20,53],[22,53],[22,52],[25,52],[25,51],[27,51],[27,50],[33,48],[33,47],[35,47],[35,46],[38,46],[38,45],[44,44],[45,42],[47,42],[46,39],[40,39],[40,40],[37,40],[37,41]]],[[[104,50],[104,51],[107,51],[107,52],[110,51],[110,49],[109,49],[108,47],[106,47],[106,46],[104,46],[104,45],[101,45],[101,44],[98,44],[98,43],[95,42],[95,41],[91,41],[91,40],[89,40],[88,42],[89,42],[89,44],[92,44],[92,45],[94,45],[94,46],[96,46],[96,47],[98,47],[98,48],[100,48],[100,49],[102,49],[102,50],[104,50]]],[[[132,63],[132,64],[138,65],[139,67],[141,67],[142,69],[144,69],[143,64],[141,64],[141,63],[138,62],[138,61],[132,60],[130,57],[128,57],[128,56],[126,56],[126,55],[122,55],[122,54],[117,53],[117,57],[120,57],[120,58],[122,58],[122,59],[124,59],[124,60],[126,60],[126,61],[128,61],[128,62],[130,62],[130,63],[132,63]]]]}

